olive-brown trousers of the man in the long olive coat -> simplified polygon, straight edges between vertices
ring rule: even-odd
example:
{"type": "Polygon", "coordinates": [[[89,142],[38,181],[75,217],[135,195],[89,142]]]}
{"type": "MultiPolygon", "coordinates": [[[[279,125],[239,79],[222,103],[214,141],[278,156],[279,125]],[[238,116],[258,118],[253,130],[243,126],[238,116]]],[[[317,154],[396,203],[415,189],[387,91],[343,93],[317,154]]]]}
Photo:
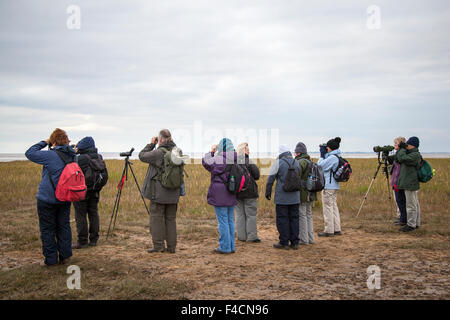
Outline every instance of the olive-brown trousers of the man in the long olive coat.
{"type": "Polygon", "coordinates": [[[168,249],[177,246],[177,208],[178,204],[150,202],[150,233],[155,249],[164,249],[164,241],[168,249]]]}

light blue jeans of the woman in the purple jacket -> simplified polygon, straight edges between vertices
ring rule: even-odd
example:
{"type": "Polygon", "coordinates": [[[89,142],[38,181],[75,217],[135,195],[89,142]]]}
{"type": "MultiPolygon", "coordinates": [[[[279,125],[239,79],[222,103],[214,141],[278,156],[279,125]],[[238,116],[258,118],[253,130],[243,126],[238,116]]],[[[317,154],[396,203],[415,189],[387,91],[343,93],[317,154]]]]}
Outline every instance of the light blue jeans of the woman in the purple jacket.
{"type": "Polygon", "coordinates": [[[219,229],[219,250],[233,252],[236,250],[234,243],[234,206],[214,207],[216,211],[219,229]]]}

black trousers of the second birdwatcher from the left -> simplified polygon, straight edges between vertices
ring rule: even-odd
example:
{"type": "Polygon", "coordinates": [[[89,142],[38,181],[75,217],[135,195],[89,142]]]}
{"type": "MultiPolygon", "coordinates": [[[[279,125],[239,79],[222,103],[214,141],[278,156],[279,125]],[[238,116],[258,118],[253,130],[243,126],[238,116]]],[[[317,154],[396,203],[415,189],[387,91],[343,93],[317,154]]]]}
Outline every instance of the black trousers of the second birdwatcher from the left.
{"type": "Polygon", "coordinates": [[[87,197],[86,200],[73,203],[75,220],[77,222],[78,243],[81,245],[88,244],[88,236],[90,242],[97,243],[98,241],[98,233],[100,231],[98,202],[98,197],[91,196],[87,197]]]}

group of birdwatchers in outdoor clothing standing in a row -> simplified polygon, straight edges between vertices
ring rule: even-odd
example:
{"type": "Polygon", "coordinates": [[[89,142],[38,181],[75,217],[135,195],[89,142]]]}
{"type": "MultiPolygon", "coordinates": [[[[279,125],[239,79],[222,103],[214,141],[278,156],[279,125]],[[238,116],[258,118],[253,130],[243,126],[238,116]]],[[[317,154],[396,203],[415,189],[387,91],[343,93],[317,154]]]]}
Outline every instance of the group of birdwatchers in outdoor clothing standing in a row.
{"type": "MultiPolygon", "coordinates": [[[[107,181],[106,166],[92,137],[85,137],[76,145],[69,143],[66,132],[58,128],[49,139],[38,142],[25,153],[30,161],[43,166],[36,198],[45,257],[43,264],[46,266],[67,263],[72,256],[72,249],[96,246],[99,239],[98,203],[100,190],[107,181]],[[72,187],[74,190],[64,189],[64,186],[78,183],[78,167],[71,166],[74,163],[85,176],[84,190],[75,190],[77,187],[72,187]],[[80,198],[78,201],[64,201],[69,199],[65,198],[69,194],[75,197],[70,199],[77,199],[77,196],[80,198]],[[71,202],[75,208],[77,228],[77,242],[74,245],[70,227],[71,202]]],[[[276,181],[273,200],[276,206],[279,241],[273,244],[274,248],[297,250],[299,245],[311,245],[315,242],[312,207],[317,200],[317,192],[311,192],[306,187],[312,164],[320,167],[324,177],[324,187],[321,191],[324,230],[317,235],[342,235],[337,205],[340,183],[339,179],[336,179],[336,171],[342,159],[340,143],[341,138],[337,137],[321,145],[317,163],[312,161],[303,142],[298,142],[293,152],[287,145],[279,146],[279,155],[270,168],[265,188],[265,198],[271,200],[276,181]],[[301,183],[295,191],[290,191],[287,184],[291,183],[289,181],[293,174],[299,177],[301,183]]],[[[420,225],[417,169],[421,156],[418,147],[417,137],[408,141],[399,137],[395,140],[397,152],[389,157],[392,164],[391,184],[398,204],[398,219],[395,223],[402,226],[402,231],[412,231],[420,225]]],[[[180,196],[186,194],[186,190],[184,181],[177,182],[176,178],[171,178],[171,173],[165,171],[174,167],[167,156],[174,150],[181,153],[170,131],[163,129],[159,136],[153,137],[139,153],[139,159],[148,163],[142,195],[150,200],[150,233],[153,247],[148,250],[149,253],[175,253],[177,247],[178,202],[180,196]]],[[[234,253],[236,236],[243,242],[261,242],[257,231],[257,181],[260,178],[260,170],[250,160],[248,143],[239,144],[236,150],[230,139],[223,138],[204,155],[202,165],[211,175],[207,202],[214,208],[218,223],[219,246],[213,252],[234,253]],[[239,170],[243,172],[242,181],[239,170]],[[237,177],[239,179],[236,179],[237,177]]],[[[183,179],[184,169],[180,172],[183,179]]]]}

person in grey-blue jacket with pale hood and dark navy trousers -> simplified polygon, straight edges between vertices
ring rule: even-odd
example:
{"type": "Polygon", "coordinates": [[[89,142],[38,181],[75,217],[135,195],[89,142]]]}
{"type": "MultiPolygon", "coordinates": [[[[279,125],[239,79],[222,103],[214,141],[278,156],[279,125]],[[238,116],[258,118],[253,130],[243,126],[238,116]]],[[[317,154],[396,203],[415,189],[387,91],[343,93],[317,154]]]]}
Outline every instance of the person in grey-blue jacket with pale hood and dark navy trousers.
{"type": "Polygon", "coordinates": [[[266,199],[270,200],[272,187],[276,180],[274,202],[276,205],[277,229],[280,234],[279,242],[273,245],[276,249],[289,250],[289,247],[298,249],[300,191],[286,192],[283,190],[284,179],[291,165],[299,174],[298,161],[292,157],[289,147],[280,145],[279,156],[270,169],[265,194],[266,199]]]}

